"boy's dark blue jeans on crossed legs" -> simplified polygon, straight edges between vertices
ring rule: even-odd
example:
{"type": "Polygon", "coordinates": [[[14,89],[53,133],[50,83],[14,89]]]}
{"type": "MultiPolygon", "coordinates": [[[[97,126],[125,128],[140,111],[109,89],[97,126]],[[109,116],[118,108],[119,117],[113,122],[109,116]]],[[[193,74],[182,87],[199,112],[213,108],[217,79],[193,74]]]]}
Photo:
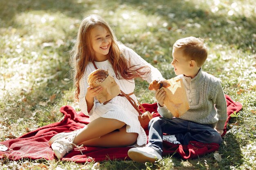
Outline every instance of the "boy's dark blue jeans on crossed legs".
{"type": "Polygon", "coordinates": [[[189,141],[217,144],[222,142],[220,134],[211,126],[179,118],[155,117],[150,120],[148,128],[147,146],[157,150],[160,155],[163,152],[163,133],[175,135],[177,141],[184,145],[189,144],[189,141]]]}

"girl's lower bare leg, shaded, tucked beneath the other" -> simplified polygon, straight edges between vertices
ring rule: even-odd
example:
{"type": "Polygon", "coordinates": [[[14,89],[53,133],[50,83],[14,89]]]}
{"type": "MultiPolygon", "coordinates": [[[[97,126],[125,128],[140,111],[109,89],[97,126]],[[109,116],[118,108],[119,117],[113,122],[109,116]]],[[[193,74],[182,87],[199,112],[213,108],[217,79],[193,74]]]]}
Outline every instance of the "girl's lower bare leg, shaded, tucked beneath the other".
{"type": "MultiPolygon", "coordinates": [[[[134,144],[137,141],[137,133],[126,132],[126,126],[123,126],[118,131],[110,132],[101,137],[84,141],[81,144],[84,146],[95,146],[95,147],[125,147],[134,144]]],[[[81,145],[79,144],[79,145],[81,145]]]]}

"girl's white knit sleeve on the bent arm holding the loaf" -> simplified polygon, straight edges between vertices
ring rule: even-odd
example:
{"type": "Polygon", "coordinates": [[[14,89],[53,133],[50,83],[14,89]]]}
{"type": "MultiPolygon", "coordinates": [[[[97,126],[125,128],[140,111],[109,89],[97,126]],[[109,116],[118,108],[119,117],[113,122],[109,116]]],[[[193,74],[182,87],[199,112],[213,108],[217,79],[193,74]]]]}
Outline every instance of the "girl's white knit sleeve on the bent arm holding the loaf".
{"type": "Polygon", "coordinates": [[[80,107],[81,111],[83,112],[83,114],[90,116],[93,113],[94,109],[95,109],[95,99],[94,99],[92,109],[90,110],[90,113],[88,113],[87,103],[86,103],[86,100],[85,100],[85,94],[87,93],[87,87],[89,85],[88,85],[88,82],[87,82],[87,77],[85,75],[83,75],[83,77],[80,79],[79,86],[80,86],[79,107],[80,107]]]}

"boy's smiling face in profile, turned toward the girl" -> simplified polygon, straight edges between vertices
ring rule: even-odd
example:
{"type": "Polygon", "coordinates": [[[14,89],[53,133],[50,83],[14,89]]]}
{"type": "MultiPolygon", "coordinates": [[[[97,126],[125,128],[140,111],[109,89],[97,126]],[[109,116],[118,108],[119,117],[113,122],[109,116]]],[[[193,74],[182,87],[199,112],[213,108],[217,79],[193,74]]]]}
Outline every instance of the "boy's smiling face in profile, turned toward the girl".
{"type": "Polygon", "coordinates": [[[191,74],[190,60],[183,55],[182,50],[173,48],[173,61],[171,64],[174,67],[175,75],[184,74],[188,76],[191,74]]]}

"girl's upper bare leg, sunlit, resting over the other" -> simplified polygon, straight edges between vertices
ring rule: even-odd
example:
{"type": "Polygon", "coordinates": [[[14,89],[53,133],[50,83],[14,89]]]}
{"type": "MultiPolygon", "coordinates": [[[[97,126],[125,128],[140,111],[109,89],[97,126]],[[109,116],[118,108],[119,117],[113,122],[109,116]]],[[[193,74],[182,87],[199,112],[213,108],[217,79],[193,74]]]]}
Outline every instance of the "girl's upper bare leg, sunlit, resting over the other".
{"type": "Polygon", "coordinates": [[[99,117],[85,126],[83,130],[79,131],[73,143],[81,144],[90,139],[102,137],[116,129],[122,128],[124,125],[124,122],[117,119],[99,117]]]}

